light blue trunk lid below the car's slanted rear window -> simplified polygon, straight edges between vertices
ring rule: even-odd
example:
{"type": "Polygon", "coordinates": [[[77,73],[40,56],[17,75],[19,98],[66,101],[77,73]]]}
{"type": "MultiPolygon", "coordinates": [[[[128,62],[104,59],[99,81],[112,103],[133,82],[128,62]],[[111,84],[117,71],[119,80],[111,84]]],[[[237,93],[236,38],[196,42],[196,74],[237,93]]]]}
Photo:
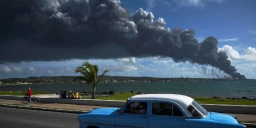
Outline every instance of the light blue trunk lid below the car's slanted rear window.
{"type": "Polygon", "coordinates": [[[219,122],[238,123],[233,116],[222,113],[211,112],[210,118],[219,122]]]}

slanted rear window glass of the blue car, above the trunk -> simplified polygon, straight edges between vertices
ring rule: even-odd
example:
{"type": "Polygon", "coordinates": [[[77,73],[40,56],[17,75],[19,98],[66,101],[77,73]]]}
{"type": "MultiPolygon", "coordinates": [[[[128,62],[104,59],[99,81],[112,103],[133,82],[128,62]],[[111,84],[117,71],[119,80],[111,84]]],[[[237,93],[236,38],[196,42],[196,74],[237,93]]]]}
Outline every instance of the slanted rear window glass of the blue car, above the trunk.
{"type": "Polygon", "coordinates": [[[188,111],[193,117],[202,117],[207,114],[207,110],[205,110],[199,103],[193,101],[188,106],[188,111]]]}

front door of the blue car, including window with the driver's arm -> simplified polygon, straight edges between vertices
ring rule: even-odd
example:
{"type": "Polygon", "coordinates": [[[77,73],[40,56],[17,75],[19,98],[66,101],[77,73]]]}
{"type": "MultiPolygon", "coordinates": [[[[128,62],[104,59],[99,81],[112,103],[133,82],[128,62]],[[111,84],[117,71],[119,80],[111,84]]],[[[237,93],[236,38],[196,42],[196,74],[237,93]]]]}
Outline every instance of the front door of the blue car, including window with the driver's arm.
{"type": "Polygon", "coordinates": [[[115,128],[148,128],[147,105],[145,101],[127,102],[125,109],[115,118],[115,128]],[[142,103],[146,104],[146,110],[141,110],[143,113],[134,113],[131,110],[131,106],[140,110],[142,103]]]}

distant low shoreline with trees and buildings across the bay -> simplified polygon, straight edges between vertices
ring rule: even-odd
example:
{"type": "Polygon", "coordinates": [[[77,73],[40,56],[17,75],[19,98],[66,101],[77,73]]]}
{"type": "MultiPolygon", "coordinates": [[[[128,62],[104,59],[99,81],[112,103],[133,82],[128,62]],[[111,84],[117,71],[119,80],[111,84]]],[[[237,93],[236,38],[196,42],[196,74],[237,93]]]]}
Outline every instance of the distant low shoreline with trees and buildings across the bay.
{"type": "MultiPolygon", "coordinates": [[[[41,76],[41,77],[28,77],[28,78],[10,78],[2,79],[2,84],[20,84],[20,83],[84,83],[83,81],[74,81],[77,76],[41,76]]],[[[157,77],[132,77],[132,76],[104,76],[102,83],[109,82],[159,82],[159,81],[234,81],[239,79],[215,79],[215,78],[157,78],[157,77]]],[[[250,80],[250,79],[242,79],[250,80]]]]}

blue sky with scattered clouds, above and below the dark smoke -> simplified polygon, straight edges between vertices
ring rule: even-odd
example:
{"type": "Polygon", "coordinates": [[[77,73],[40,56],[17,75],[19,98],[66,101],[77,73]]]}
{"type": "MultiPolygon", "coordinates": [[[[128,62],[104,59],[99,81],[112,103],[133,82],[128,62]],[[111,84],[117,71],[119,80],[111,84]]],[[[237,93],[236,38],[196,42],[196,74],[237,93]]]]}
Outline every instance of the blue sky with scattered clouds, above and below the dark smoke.
{"type": "MultiPolygon", "coordinates": [[[[225,52],[233,66],[247,78],[256,79],[256,1],[255,0],[121,0],[131,14],[142,8],[165,19],[167,28],[194,29],[196,38],[218,39],[219,52],[225,52]]],[[[75,74],[84,61],[96,64],[108,75],[153,77],[225,77],[211,66],[174,62],[171,58],[120,58],[62,61],[29,61],[0,65],[0,79],[29,76],[75,74]]]]}

